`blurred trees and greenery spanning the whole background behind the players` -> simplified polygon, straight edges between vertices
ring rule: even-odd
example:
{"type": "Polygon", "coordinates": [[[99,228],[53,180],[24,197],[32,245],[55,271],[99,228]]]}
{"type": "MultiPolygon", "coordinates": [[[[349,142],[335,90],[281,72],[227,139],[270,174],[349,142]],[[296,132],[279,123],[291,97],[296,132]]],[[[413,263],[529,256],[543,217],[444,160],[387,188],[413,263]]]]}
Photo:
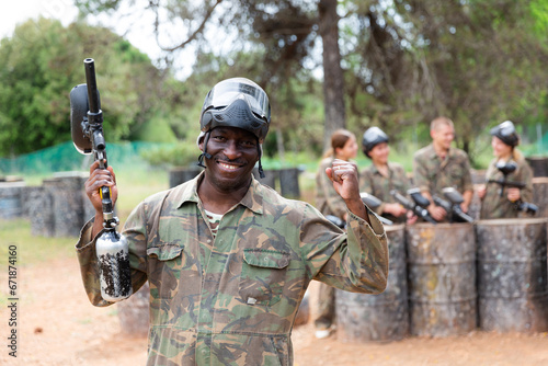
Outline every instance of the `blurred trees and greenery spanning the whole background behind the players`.
{"type": "MultiPolygon", "coordinates": [[[[267,169],[315,171],[332,130],[361,140],[379,126],[391,160],[411,171],[438,115],[455,122],[455,144],[478,169],[491,159],[489,128],[505,119],[526,155],[548,149],[548,0],[75,4],[80,15],[68,26],[33,19],[0,41],[0,175],[87,170],[70,142],[68,99],[85,82],[87,57],[95,59],[109,158],[124,169],[193,163],[203,99],[236,76],[271,98],[267,169]],[[110,26],[139,14],[150,15],[141,22],[163,49],[155,59],[110,26]],[[192,72],[181,76],[189,48],[192,72]]],[[[358,163],[368,161],[359,155],[358,163]]]]}

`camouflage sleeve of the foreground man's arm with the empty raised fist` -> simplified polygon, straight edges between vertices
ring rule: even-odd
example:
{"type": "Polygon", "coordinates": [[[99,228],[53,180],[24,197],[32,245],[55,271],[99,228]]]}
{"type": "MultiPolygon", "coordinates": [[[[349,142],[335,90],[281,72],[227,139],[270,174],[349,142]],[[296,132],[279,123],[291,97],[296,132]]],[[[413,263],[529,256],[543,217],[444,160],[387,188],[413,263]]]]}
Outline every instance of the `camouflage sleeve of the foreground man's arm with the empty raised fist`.
{"type": "Polygon", "coordinates": [[[372,225],[350,210],[347,232],[308,206],[301,225],[301,249],[312,278],[354,293],[380,294],[388,275],[386,232],[368,210],[372,225]]]}

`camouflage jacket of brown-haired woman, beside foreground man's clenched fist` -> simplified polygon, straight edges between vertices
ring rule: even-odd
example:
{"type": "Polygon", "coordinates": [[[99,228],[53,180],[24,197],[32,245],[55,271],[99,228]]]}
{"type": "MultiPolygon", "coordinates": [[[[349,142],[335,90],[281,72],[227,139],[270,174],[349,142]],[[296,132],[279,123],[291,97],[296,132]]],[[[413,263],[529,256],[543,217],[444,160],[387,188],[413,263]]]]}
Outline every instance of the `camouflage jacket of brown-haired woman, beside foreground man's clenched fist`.
{"type": "Polygon", "coordinates": [[[346,204],[333,187],[333,182],[326,174],[326,168],[331,167],[333,158],[329,157],[320,161],[316,173],[316,207],[323,215],[334,215],[343,218],[346,214],[346,204]]]}

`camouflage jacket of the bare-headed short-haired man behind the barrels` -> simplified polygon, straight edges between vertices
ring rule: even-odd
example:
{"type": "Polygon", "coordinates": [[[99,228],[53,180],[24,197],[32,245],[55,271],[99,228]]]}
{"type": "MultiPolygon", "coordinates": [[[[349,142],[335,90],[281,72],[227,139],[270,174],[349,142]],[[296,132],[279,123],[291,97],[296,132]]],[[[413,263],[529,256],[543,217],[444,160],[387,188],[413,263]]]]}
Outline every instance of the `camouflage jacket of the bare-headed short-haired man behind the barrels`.
{"type": "Polygon", "coordinates": [[[443,197],[442,190],[454,187],[460,194],[473,191],[468,155],[450,148],[444,161],[439,160],[431,144],[415,152],[413,157],[413,184],[421,192],[443,197]]]}

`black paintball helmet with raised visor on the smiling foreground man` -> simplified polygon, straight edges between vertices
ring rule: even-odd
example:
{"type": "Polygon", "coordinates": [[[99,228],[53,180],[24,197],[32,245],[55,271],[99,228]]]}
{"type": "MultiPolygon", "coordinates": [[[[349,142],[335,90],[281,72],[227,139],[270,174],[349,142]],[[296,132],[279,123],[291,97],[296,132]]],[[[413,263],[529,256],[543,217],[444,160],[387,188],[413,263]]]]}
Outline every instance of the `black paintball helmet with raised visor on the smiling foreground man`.
{"type": "Polygon", "coordinates": [[[271,105],[264,90],[246,78],[232,78],[217,83],[207,93],[199,129],[207,133],[215,127],[238,127],[256,136],[263,142],[271,122],[271,105]]]}

